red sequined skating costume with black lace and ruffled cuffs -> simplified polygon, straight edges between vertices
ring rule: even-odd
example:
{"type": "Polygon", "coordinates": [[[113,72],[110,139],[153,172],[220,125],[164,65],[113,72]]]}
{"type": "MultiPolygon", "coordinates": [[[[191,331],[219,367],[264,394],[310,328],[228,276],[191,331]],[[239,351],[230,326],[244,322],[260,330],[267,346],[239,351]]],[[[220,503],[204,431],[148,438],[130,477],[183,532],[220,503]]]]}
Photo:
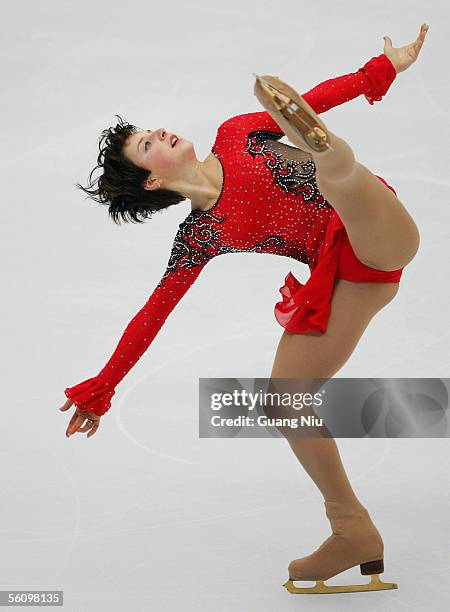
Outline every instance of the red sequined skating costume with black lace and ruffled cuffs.
{"type": "MultiPolygon", "coordinates": [[[[395,75],[392,63],[381,54],[357,72],[329,79],[303,97],[317,113],[360,94],[373,104],[395,75]]],[[[223,173],[217,201],[207,211],[193,209],[180,223],[164,275],[105,367],[65,389],[76,406],[98,415],[109,409],[116,386],[205,265],[218,255],[272,253],[309,266],[311,275],[304,285],[289,272],[279,290],[282,300],[275,305],[277,321],[292,333],[325,332],[336,278],[399,281],[402,269],[383,272],[356,258],[332,202],[317,188],[311,156],[280,143],[284,135],[266,111],[237,115],[219,126],[212,147],[223,173]]]]}

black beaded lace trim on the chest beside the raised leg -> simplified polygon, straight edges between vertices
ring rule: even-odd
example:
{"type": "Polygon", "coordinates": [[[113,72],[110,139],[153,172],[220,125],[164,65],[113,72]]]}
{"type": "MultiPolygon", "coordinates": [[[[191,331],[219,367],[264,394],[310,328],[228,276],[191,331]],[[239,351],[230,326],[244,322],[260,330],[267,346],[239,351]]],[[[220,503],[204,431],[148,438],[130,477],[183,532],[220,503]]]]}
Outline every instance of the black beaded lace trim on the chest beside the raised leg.
{"type": "Polygon", "coordinates": [[[255,159],[257,155],[264,157],[263,163],[269,168],[274,182],[286,193],[301,195],[303,200],[311,202],[315,208],[333,208],[320,193],[316,183],[316,165],[312,159],[301,162],[295,159],[285,159],[284,156],[271,149],[267,140],[280,140],[283,134],[269,130],[250,132],[247,137],[246,151],[255,159]],[[298,167],[301,167],[301,172],[298,167]]]}

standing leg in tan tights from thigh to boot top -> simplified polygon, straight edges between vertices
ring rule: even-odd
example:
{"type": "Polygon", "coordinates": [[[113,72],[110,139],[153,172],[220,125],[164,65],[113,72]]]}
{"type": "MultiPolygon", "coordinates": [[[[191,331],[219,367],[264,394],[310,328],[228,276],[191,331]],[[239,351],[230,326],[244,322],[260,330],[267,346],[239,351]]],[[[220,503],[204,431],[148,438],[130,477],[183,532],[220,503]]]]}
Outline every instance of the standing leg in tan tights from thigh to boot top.
{"type": "MultiPolygon", "coordinates": [[[[373,316],[397,293],[398,283],[353,283],[338,279],[325,334],[284,332],[271,378],[332,377],[353,353],[373,316]]],[[[314,389],[305,389],[314,392],[314,389]]],[[[333,438],[290,437],[288,442],[325,500],[359,501],[333,438]]]]}

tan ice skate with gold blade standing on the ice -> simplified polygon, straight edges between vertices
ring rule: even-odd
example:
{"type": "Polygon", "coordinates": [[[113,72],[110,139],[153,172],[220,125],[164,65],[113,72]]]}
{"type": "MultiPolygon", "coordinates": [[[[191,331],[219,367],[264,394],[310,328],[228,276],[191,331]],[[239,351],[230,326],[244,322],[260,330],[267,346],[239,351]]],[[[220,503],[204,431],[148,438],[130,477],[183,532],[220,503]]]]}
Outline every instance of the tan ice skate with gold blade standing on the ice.
{"type": "Polygon", "coordinates": [[[351,593],[396,589],[393,582],[382,582],[384,572],[383,540],[364,506],[326,501],[325,510],[332,535],[313,553],[289,564],[289,579],[283,586],[290,593],[351,593]],[[328,586],[325,580],[355,565],[363,576],[371,576],[365,584],[328,586]],[[315,580],[313,587],[296,587],[294,581],[315,580]]]}

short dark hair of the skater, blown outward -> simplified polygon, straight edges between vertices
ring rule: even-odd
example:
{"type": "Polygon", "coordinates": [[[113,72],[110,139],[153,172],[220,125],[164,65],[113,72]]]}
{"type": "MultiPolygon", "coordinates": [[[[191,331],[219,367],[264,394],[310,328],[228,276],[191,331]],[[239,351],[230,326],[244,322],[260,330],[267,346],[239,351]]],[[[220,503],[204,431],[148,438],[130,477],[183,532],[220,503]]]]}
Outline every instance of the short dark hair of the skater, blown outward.
{"type": "Polygon", "coordinates": [[[120,225],[120,218],[125,223],[142,223],[153,213],[162,211],[169,206],[178,204],[186,198],[170,189],[144,189],[143,183],[150,176],[144,168],[136,166],[123,153],[125,141],[138,128],[124,121],[120,115],[115,115],[119,123],[114,128],[103,130],[99,138],[100,153],[97,166],[89,174],[87,188],[79,183],[76,187],[99,204],[109,206],[109,214],[114,223],[120,225]],[[92,181],[92,174],[97,168],[103,168],[103,174],[92,181]],[[98,187],[93,189],[98,183],[98,187]]]}

